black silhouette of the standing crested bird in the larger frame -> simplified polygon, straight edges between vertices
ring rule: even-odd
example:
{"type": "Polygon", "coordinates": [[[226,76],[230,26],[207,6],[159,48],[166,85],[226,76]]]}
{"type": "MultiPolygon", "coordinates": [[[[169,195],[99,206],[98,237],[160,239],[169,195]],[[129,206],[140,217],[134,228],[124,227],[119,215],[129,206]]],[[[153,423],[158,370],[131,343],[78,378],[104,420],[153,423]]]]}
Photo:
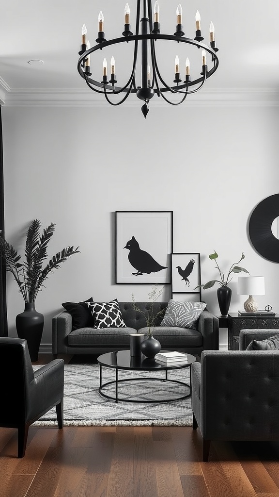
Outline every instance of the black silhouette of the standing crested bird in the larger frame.
{"type": "Polygon", "coordinates": [[[137,242],[134,236],[123,248],[129,250],[128,260],[130,264],[137,269],[137,272],[131,274],[140,276],[143,273],[150,274],[161,271],[162,269],[167,269],[167,266],[161,266],[148,252],[141,250],[141,248],[139,248],[139,242],[137,242]]]}

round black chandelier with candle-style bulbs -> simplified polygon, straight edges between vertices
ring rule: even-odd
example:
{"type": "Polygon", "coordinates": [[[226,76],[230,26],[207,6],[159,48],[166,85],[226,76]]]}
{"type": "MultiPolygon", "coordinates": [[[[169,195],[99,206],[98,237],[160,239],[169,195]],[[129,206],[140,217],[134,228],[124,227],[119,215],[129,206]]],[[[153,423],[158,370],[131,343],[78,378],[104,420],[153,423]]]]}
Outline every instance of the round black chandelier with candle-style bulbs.
{"type": "MultiPolygon", "coordinates": [[[[80,58],[77,63],[77,70],[80,76],[85,80],[86,84],[90,89],[94,90],[97,93],[102,93],[105,95],[106,100],[111,105],[120,105],[122,104],[130,95],[130,93],[136,93],[137,97],[140,100],[144,101],[144,104],[141,107],[141,111],[146,118],[147,112],[149,111],[148,103],[149,100],[156,94],[157,96],[161,96],[167,103],[171,105],[179,105],[184,102],[186,96],[190,93],[196,93],[198,90],[202,88],[207,78],[209,78],[218,67],[218,58],[216,56],[216,52],[218,49],[215,44],[215,36],[214,36],[214,26],[212,22],[209,27],[209,37],[210,37],[210,46],[202,43],[204,40],[201,31],[201,16],[199,11],[196,13],[196,36],[194,39],[186,38],[183,32],[182,25],[182,7],[179,4],[177,7],[176,15],[177,15],[177,25],[176,32],[173,35],[161,34],[160,31],[160,23],[159,23],[159,4],[158,1],[155,1],[153,8],[153,21],[152,21],[152,6],[151,0],[137,0],[137,14],[136,14],[136,34],[133,34],[131,31],[130,25],[130,8],[128,3],[126,3],[125,10],[125,23],[124,23],[124,31],[122,33],[122,37],[114,38],[112,40],[105,39],[104,32],[104,16],[103,13],[99,13],[98,21],[99,21],[99,32],[98,37],[96,39],[96,45],[94,47],[90,47],[90,43],[87,40],[87,30],[85,24],[82,26],[81,34],[82,34],[82,43],[81,50],[79,53],[80,58]],[[140,18],[140,16],[142,17],[140,18]],[[141,25],[141,34],[139,33],[139,25],[141,25]],[[158,69],[157,57],[156,57],[156,49],[157,43],[160,40],[170,40],[175,41],[176,43],[186,43],[191,46],[196,46],[198,49],[202,49],[202,57],[201,57],[201,73],[197,75],[197,77],[192,80],[190,75],[190,61],[187,57],[185,63],[185,79],[182,81],[180,76],[179,69],[179,59],[178,56],[175,58],[175,73],[173,83],[165,83],[158,69]],[[136,81],[136,67],[138,64],[138,48],[139,41],[141,42],[141,81],[140,84],[137,84],[136,81]],[[115,74],[115,60],[114,57],[111,58],[111,71],[110,71],[110,80],[108,80],[107,75],[107,61],[104,58],[103,61],[103,77],[101,81],[97,81],[95,79],[90,78],[92,73],[90,72],[90,55],[96,52],[97,50],[102,50],[105,47],[110,45],[116,45],[119,43],[131,43],[134,42],[134,56],[133,56],[133,65],[130,77],[127,83],[124,86],[116,86],[116,74],[115,74]],[[210,58],[210,68],[207,65],[207,53],[210,58]],[[173,93],[179,96],[179,101],[171,101],[166,97],[165,93],[173,93]],[[114,95],[124,94],[123,98],[121,96],[121,100],[115,101],[114,95]],[[111,96],[113,95],[113,100],[111,100],[111,96]]],[[[93,72],[93,70],[92,70],[93,72]]],[[[94,72],[100,73],[99,69],[97,70],[94,67],[94,72]]],[[[101,73],[100,73],[101,74],[101,73]]],[[[94,74],[94,77],[95,74],[94,74]]],[[[182,77],[183,78],[183,77],[182,77]]]]}

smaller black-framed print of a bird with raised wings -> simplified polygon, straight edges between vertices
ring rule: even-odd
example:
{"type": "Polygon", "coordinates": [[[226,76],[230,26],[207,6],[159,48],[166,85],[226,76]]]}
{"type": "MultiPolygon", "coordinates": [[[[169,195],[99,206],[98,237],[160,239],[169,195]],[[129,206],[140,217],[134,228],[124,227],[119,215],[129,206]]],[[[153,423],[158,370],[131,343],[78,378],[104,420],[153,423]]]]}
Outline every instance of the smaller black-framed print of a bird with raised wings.
{"type": "Polygon", "coordinates": [[[171,254],[172,293],[195,295],[201,300],[201,256],[200,253],[171,254]]]}

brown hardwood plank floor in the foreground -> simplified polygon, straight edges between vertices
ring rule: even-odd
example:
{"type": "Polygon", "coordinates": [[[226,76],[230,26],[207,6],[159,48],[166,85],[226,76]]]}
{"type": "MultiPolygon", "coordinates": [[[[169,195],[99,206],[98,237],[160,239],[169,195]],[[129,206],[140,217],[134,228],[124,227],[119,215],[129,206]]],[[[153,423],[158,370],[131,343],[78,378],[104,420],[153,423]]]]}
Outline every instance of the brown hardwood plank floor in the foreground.
{"type": "Polygon", "coordinates": [[[279,497],[279,443],[211,445],[204,463],[188,426],[31,426],[18,459],[0,428],[0,496],[279,497]]]}

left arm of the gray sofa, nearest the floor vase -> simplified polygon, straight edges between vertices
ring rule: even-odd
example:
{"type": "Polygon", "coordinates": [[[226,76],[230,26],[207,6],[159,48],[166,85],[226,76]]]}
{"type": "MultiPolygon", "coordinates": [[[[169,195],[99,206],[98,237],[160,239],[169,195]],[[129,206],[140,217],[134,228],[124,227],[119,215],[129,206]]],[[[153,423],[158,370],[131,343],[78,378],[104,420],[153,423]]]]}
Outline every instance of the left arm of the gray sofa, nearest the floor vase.
{"type": "Polygon", "coordinates": [[[67,354],[67,336],[72,327],[71,315],[62,311],[52,318],[52,353],[67,354]]]}

